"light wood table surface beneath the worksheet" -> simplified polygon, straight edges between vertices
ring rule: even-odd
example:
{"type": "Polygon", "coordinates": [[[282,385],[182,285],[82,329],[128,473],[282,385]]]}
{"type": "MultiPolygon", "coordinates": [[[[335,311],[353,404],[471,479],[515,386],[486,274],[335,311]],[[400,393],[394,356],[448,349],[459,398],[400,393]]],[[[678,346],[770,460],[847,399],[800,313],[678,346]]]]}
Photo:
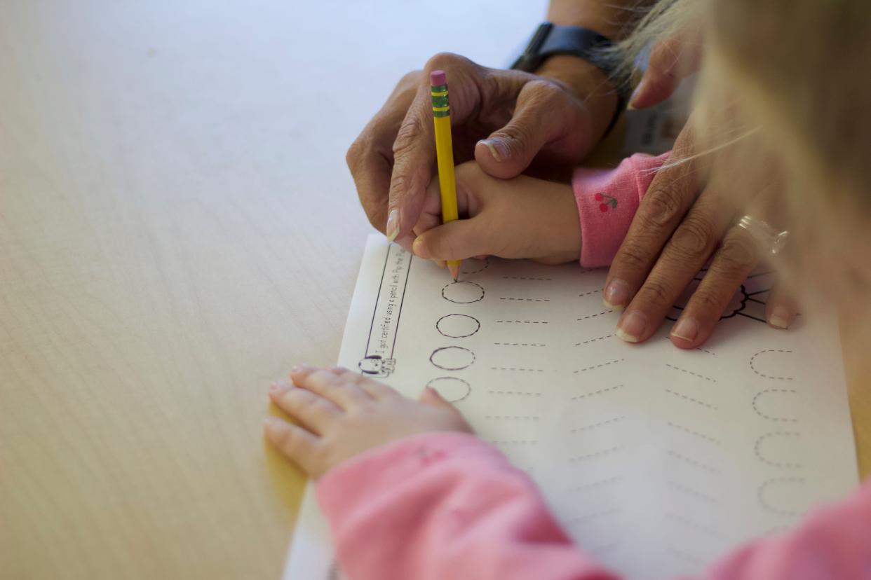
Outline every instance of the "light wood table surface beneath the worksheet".
{"type": "Polygon", "coordinates": [[[279,576],[303,479],[261,421],[338,353],[344,152],[404,72],[544,13],[439,6],[0,3],[0,577],[279,576]]]}

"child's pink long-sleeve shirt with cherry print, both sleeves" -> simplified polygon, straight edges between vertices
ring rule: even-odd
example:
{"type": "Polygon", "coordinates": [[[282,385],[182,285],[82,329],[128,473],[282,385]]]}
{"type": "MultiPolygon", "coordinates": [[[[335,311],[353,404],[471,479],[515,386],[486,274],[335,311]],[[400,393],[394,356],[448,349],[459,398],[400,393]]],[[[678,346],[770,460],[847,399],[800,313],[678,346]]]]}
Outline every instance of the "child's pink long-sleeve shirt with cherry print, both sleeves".
{"type": "MultiPolygon", "coordinates": [[[[577,170],[581,263],[611,263],[665,162],[577,170]]],[[[614,580],[572,543],[523,471],[477,437],[429,433],[342,463],[317,488],[353,580],[614,580]]],[[[792,532],[739,547],[707,580],[871,580],[871,483],[792,532]]]]}

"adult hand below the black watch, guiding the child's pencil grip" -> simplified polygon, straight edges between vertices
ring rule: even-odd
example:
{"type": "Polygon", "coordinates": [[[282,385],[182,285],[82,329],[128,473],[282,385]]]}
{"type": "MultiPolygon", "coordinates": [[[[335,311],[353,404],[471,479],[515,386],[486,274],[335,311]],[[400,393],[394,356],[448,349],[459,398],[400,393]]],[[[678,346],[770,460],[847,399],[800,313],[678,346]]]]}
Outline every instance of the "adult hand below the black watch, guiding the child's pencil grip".
{"type": "Polygon", "coordinates": [[[551,57],[533,75],[445,53],[402,77],[347,160],[369,221],[406,247],[436,166],[432,70],[448,76],[455,162],[474,157],[493,177],[516,177],[533,162],[570,168],[602,136],[617,103],[604,74],[576,57],[551,57]]]}

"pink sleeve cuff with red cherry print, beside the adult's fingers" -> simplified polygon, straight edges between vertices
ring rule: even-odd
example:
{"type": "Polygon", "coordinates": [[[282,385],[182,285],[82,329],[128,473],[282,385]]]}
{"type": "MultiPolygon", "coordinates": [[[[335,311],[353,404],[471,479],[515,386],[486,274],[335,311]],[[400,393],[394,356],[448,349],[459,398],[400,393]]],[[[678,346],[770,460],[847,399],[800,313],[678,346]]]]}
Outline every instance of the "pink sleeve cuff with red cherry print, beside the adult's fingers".
{"type": "Polygon", "coordinates": [[[671,151],[658,157],[636,153],[614,170],[575,171],[571,186],[581,220],[584,268],[611,264],[656,170],[670,155],[671,151]]]}

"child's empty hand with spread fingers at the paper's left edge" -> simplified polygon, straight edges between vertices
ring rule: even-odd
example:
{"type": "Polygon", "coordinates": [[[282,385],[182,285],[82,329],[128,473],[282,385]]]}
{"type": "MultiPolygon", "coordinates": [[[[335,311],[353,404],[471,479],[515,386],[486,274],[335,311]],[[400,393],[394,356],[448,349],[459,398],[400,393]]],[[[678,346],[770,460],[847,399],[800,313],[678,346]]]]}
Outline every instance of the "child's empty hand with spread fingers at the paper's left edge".
{"type": "Polygon", "coordinates": [[[363,451],[417,433],[472,432],[460,412],[429,387],[417,403],[347,369],[298,365],[290,377],[296,386],[275,383],[269,397],[302,426],[267,417],[265,430],[281,453],[315,478],[363,451]]]}

